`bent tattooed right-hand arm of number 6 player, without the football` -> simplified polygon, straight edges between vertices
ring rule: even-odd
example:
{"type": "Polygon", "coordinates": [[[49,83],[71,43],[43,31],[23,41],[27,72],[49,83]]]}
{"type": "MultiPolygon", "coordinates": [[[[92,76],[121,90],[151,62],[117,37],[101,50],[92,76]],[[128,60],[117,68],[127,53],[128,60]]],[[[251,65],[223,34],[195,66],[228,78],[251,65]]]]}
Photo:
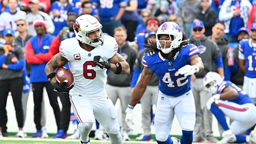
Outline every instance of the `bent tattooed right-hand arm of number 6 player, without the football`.
{"type": "Polygon", "coordinates": [[[122,67],[120,74],[129,74],[130,73],[129,64],[119,53],[116,53],[111,59],[108,60],[108,62],[111,64],[111,67],[109,70],[113,71],[114,73],[118,72],[117,71],[118,70],[117,63],[121,64],[121,67],[122,67]]]}

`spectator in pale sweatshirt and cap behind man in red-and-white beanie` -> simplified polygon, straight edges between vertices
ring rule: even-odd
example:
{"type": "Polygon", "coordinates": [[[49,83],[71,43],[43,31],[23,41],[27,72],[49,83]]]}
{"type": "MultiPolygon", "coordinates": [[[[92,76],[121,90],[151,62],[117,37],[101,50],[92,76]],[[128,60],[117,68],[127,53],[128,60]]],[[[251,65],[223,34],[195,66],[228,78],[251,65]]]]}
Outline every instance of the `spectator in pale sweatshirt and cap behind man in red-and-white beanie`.
{"type": "Polygon", "coordinates": [[[36,18],[43,18],[43,20],[46,22],[47,33],[53,33],[55,30],[53,21],[48,14],[42,11],[39,11],[39,1],[31,0],[29,3],[30,3],[31,13],[29,13],[26,16],[28,34],[31,36],[37,35],[36,30],[34,29],[34,26],[33,26],[33,21],[36,20],[36,18]]]}

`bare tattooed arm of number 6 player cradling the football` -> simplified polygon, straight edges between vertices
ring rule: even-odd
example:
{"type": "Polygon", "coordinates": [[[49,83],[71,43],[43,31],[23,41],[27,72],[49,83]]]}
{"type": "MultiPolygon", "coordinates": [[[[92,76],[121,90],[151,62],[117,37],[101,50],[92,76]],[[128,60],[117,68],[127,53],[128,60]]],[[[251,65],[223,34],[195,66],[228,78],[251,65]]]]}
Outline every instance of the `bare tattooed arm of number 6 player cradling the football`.
{"type": "MultiPolygon", "coordinates": [[[[55,69],[60,68],[68,63],[68,60],[60,55],[60,53],[55,54],[52,59],[46,64],[44,69],[46,75],[55,73],[55,69]]],[[[52,85],[57,82],[55,76],[50,79],[52,85]]]]}

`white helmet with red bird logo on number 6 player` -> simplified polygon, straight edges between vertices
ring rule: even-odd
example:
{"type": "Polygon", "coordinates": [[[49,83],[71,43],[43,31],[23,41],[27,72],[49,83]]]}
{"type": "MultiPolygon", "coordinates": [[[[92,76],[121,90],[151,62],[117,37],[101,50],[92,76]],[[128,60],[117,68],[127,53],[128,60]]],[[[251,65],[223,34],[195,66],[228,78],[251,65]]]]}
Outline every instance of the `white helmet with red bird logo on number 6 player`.
{"type": "Polygon", "coordinates": [[[103,45],[104,42],[104,34],[101,30],[102,25],[100,22],[91,15],[81,15],[76,18],[74,22],[74,32],[76,35],[76,39],[78,39],[81,43],[86,43],[92,47],[97,47],[98,45],[103,45]],[[88,33],[92,31],[99,31],[100,36],[89,38],[88,33]],[[92,41],[94,39],[94,41],[92,41]]]}

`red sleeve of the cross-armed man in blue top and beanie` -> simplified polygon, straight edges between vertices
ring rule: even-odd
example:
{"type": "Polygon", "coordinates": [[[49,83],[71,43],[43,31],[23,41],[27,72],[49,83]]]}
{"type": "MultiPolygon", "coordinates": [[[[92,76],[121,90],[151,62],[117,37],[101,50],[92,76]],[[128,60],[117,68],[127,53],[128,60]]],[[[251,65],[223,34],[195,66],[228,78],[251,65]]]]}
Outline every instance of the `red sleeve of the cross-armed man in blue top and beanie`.
{"type": "Polygon", "coordinates": [[[28,64],[42,64],[42,63],[45,63],[43,60],[35,57],[34,50],[32,48],[32,45],[31,45],[30,41],[27,41],[27,43],[26,43],[25,55],[26,55],[26,60],[27,60],[28,64]]]}

